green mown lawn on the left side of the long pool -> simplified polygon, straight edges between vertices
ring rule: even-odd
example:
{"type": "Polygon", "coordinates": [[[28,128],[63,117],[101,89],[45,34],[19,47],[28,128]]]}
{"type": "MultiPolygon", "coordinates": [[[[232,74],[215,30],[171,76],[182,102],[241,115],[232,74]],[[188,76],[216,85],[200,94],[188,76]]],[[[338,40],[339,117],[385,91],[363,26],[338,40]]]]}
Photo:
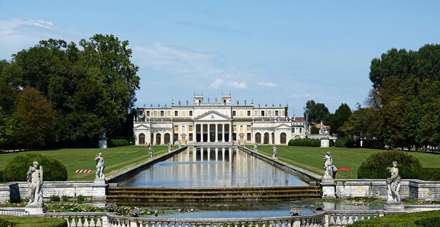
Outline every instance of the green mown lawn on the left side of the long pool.
{"type": "MultiPolygon", "coordinates": [[[[154,155],[159,157],[168,152],[167,145],[155,145],[154,155]]],[[[177,148],[173,146],[173,150],[177,148]]],[[[39,153],[41,155],[50,155],[55,157],[57,160],[62,162],[67,169],[67,179],[69,181],[74,180],[76,169],[91,169],[92,170],[92,180],[95,179],[95,157],[98,153],[103,153],[105,162],[105,176],[110,176],[116,174],[122,169],[127,169],[135,164],[140,164],[148,162],[150,157],[148,155],[148,148],[145,146],[125,146],[117,148],[82,148],[82,149],[60,149],[60,150],[39,150],[39,151],[29,151],[25,153],[39,153]]],[[[2,153],[0,154],[0,170],[3,170],[13,157],[17,155],[22,155],[22,153],[2,153]]],[[[32,163],[30,163],[30,166],[32,163]]],[[[44,165],[44,164],[43,164],[44,165]]],[[[78,180],[89,180],[89,174],[77,174],[78,180]]]]}

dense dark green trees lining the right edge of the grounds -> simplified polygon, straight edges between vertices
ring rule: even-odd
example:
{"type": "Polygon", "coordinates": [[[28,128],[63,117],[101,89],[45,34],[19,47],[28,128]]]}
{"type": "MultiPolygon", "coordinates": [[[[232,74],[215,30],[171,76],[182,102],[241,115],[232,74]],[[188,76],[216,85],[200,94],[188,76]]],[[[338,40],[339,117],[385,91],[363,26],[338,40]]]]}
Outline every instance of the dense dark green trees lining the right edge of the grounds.
{"type": "Polygon", "coordinates": [[[415,148],[440,143],[440,45],[418,51],[392,48],[371,62],[373,89],[341,131],[351,141],[380,148],[415,148]]]}

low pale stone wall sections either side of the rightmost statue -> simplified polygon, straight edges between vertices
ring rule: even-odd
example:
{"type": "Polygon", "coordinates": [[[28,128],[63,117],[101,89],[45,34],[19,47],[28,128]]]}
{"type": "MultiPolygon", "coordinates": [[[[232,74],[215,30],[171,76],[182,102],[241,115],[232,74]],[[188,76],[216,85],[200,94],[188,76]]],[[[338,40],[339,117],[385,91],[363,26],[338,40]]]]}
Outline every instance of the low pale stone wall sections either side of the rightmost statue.
{"type": "MultiPolygon", "coordinates": [[[[335,180],[337,197],[376,197],[387,199],[387,183],[385,180],[335,180]]],[[[401,199],[440,200],[440,181],[422,181],[408,179],[401,181],[399,190],[401,199]]]]}

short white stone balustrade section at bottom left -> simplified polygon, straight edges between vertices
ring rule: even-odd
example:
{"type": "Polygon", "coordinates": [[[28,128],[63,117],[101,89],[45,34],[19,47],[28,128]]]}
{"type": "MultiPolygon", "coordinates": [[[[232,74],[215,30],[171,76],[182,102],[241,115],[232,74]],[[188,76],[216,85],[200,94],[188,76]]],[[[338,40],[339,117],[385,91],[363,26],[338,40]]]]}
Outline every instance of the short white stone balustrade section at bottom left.
{"type": "Polygon", "coordinates": [[[58,212],[46,213],[52,219],[66,219],[68,227],[108,227],[105,212],[58,212]]]}

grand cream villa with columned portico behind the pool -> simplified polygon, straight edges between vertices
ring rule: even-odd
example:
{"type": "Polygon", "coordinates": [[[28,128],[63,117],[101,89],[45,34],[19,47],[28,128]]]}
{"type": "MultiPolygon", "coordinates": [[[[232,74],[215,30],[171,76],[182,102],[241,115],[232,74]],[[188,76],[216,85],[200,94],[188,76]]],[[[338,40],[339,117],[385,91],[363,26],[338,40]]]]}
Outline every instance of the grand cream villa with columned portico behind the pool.
{"type": "Polygon", "coordinates": [[[290,138],[304,137],[305,130],[288,119],[281,104],[254,107],[237,101],[231,104],[231,94],[221,100],[204,102],[203,95],[194,95],[194,104],[167,108],[138,108],[134,119],[136,145],[176,143],[258,143],[287,144],[290,138]]]}

